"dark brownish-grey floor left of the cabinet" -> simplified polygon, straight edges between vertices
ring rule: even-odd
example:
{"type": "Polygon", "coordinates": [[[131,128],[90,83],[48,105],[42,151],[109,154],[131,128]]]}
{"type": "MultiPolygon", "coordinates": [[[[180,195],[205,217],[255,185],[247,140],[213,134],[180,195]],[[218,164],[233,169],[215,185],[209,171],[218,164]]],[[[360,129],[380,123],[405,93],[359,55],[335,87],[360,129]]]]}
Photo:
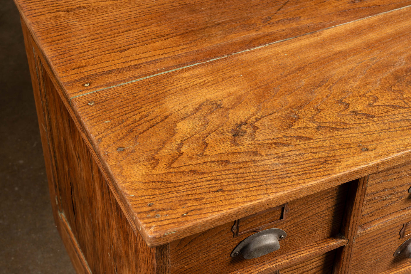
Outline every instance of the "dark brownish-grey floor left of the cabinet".
{"type": "Polygon", "coordinates": [[[0,273],[74,269],[55,228],[18,11],[0,0],[0,273]]]}

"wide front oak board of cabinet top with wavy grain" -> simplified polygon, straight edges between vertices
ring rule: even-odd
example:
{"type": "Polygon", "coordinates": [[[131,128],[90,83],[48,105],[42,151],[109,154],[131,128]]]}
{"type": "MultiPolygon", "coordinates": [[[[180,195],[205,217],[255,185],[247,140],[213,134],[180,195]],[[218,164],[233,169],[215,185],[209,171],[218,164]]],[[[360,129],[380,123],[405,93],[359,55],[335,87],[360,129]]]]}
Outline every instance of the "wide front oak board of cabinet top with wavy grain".
{"type": "Polygon", "coordinates": [[[410,19],[397,10],[72,107],[161,245],[408,160],[410,19]]]}

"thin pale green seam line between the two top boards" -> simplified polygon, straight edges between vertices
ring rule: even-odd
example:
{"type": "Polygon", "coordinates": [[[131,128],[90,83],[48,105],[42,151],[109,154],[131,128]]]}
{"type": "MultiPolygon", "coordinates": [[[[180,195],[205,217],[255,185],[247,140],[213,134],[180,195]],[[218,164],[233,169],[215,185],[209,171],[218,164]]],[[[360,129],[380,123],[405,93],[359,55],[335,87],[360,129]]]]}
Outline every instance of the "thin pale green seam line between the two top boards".
{"type": "Polygon", "coordinates": [[[159,75],[166,74],[166,73],[169,73],[169,72],[174,72],[174,71],[182,70],[182,69],[185,69],[185,68],[188,68],[188,67],[194,67],[194,66],[196,66],[196,65],[202,65],[202,64],[205,64],[205,63],[210,63],[210,62],[212,62],[212,61],[220,60],[220,59],[223,59],[223,58],[226,58],[226,57],[229,57],[229,56],[237,55],[237,54],[244,53],[244,52],[247,52],[247,51],[254,51],[254,50],[256,50],[256,49],[261,49],[261,48],[264,48],[264,47],[266,47],[266,46],[270,46],[270,45],[277,44],[277,43],[280,43],[280,42],[289,41],[289,40],[291,40],[291,39],[299,38],[299,37],[302,37],[302,36],[305,36],[305,35],[310,35],[310,34],[313,34],[313,33],[318,33],[318,32],[323,31],[323,30],[329,30],[329,29],[331,29],[331,28],[336,28],[336,27],[339,27],[339,26],[344,26],[344,25],[346,25],[346,24],[354,23],[354,22],[357,22],[357,21],[361,21],[361,20],[364,20],[364,19],[371,18],[371,17],[379,16],[379,15],[382,15],[382,14],[387,14],[387,13],[390,13],[390,12],[395,12],[395,11],[398,11],[398,10],[401,10],[401,9],[406,9],[406,8],[409,8],[409,7],[411,7],[411,5],[404,6],[404,7],[399,7],[399,8],[397,8],[397,9],[392,9],[392,10],[389,10],[389,11],[386,11],[386,12],[381,12],[381,13],[378,13],[378,14],[373,14],[373,15],[370,15],[370,16],[367,16],[367,17],[363,17],[363,18],[360,18],[360,19],[356,19],[356,20],[353,20],[353,21],[341,23],[341,24],[338,24],[338,25],[335,25],[335,26],[330,26],[330,27],[328,27],[328,28],[322,28],[321,30],[315,30],[315,31],[312,31],[312,32],[309,32],[309,33],[304,33],[304,34],[296,35],[296,36],[289,37],[289,38],[286,38],[286,39],[277,40],[277,41],[275,41],[275,42],[270,42],[270,43],[268,43],[268,44],[264,44],[264,45],[261,45],[261,46],[256,46],[256,47],[253,47],[253,48],[250,48],[250,49],[245,49],[245,50],[243,50],[243,51],[233,52],[233,53],[230,53],[230,54],[226,54],[226,55],[224,55],[224,56],[220,56],[220,57],[217,57],[217,58],[212,58],[212,59],[209,59],[209,60],[205,60],[205,61],[202,61],[202,62],[198,62],[198,63],[191,64],[191,65],[186,65],[186,66],[183,66],[183,67],[177,67],[177,68],[172,69],[172,70],[167,70],[167,71],[164,71],[164,72],[159,72],[159,73],[156,73],[156,74],[152,74],[152,75],[149,75],[149,76],[141,77],[141,78],[134,79],[134,80],[131,80],[131,81],[127,81],[127,82],[124,82],[124,83],[120,83],[120,84],[117,84],[117,85],[108,86],[108,87],[105,87],[105,88],[99,88],[99,89],[97,89],[97,90],[95,90],[95,91],[90,91],[90,92],[87,92],[87,93],[83,93],[83,94],[79,94],[79,95],[73,96],[72,98],[69,99],[69,102],[70,102],[70,104],[71,104],[72,99],[77,98],[77,97],[80,97],[80,96],[83,96],[83,95],[89,95],[89,94],[95,93],[95,92],[97,92],[97,91],[104,91],[104,90],[106,90],[106,89],[110,89],[110,88],[115,88],[115,87],[118,87],[118,86],[123,86],[123,85],[131,84],[131,83],[134,83],[134,82],[137,82],[137,81],[141,81],[141,80],[148,79],[148,78],[151,78],[151,77],[159,76],[159,75]]]}

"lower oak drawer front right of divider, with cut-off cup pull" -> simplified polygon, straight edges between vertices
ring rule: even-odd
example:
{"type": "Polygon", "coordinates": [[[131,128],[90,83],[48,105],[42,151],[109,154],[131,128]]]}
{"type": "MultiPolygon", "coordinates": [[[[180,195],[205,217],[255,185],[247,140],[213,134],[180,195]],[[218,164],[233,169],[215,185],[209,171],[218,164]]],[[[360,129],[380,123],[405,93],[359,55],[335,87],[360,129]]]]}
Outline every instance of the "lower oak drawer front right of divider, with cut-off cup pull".
{"type": "Polygon", "coordinates": [[[397,248],[410,238],[399,239],[403,223],[409,221],[411,214],[360,232],[355,239],[349,273],[411,273],[411,259],[404,255],[394,257],[397,248]]]}

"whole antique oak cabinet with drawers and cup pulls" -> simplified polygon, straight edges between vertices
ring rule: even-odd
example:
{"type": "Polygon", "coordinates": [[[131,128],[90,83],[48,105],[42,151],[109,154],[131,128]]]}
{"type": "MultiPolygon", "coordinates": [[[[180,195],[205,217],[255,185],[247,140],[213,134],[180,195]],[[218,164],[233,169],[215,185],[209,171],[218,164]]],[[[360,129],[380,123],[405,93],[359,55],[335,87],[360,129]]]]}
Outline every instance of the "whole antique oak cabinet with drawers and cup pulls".
{"type": "Polygon", "coordinates": [[[78,273],[411,271],[411,1],[15,2],[78,273]]]}

